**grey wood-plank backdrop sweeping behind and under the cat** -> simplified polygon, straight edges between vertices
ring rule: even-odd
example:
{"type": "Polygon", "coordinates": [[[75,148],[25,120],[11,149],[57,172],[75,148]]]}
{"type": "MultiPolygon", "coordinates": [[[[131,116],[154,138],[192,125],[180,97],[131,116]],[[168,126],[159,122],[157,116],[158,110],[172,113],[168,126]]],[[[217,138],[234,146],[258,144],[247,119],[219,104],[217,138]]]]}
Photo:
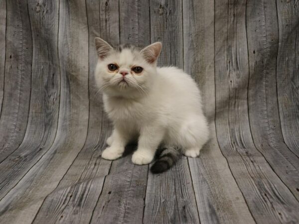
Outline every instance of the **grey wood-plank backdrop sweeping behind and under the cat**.
{"type": "Polygon", "coordinates": [[[298,224],[299,0],[0,0],[0,223],[298,224]],[[101,158],[95,36],[192,75],[199,158],[101,158]]]}

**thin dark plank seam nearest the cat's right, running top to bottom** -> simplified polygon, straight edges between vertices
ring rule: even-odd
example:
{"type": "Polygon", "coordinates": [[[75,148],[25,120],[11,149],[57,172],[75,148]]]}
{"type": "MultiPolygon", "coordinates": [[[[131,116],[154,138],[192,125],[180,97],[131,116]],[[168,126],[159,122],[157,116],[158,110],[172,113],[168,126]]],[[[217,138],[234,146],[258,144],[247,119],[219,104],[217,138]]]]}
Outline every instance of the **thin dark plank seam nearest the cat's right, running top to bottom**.
{"type": "MultiPolygon", "coordinates": [[[[247,1],[246,1],[246,2],[247,2],[247,1]]],[[[247,6],[247,3],[246,3],[246,6],[247,6]]],[[[216,21],[215,21],[215,20],[216,20],[216,2],[215,2],[215,0],[214,0],[214,71],[215,71],[215,69],[216,69],[216,68],[215,68],[215,55],[216,55],[216,54],[215,54],[215,49],[216,49],[216,48],[215,48],[215,23],[216,23],[216,21]]],[[[214,101],[215,101],[214,125],[215,125],[215,132],[216,132],[215,138],[216,138],[216,141],[217,141],[217,144],[218,144],[220,153],[222,154],[222,156],[223,156],[223,157],[225,158],[225,160],[226,160],[227,166],[228,166],[228,168],[229,168],[229,170],[230,170],[230,172],[231,172],[232,177],[234,178],[234,181],[235,181],[235,183],[236,183],[236,185],[237,185],[239,191],[240,191],[241,194],[242,194],[242,197],[243,197],[243,199],[244,199],[244,202],[245,202],[246,205],[247,205],[248,211],[250,212],[250,215],[251,215],[252,219],[254,220],[254,222],[257,223],[255,217],[252,215],[252,212],[251,212],[251,210],[250,210],[250,207],[248,206],[248,203],[247,203],[247,201],[246,201],[246,199],[245,199],[245,197],[244,197],[244,194],[243,194],[243,192],[241,191],[241,188],[239,187],[239,184],[238,184],[238,182],[236,181],[235,176],[233,175],[233,172],[232,172],[232,170],[231,170],[230,164],[229,164],[227,158],[224,156],[224,154],[223,154],[223,152],[222,152],[222,150],[221,150],[221,147],[220,147],[220,144],[219,144],[219,141],[218,141],[217,127],[216,127],[216,109],[217,109],[217,104],[216,104],[216,77],[215,77],[215,75],[214,75],[214,85],[215,85],[215,88],[214,88],[214,91],[215,91],[215,98],[214,98],[214,101]]],[[[246,169],[247,169],[247,167],[246,167],[246,169]]]]}

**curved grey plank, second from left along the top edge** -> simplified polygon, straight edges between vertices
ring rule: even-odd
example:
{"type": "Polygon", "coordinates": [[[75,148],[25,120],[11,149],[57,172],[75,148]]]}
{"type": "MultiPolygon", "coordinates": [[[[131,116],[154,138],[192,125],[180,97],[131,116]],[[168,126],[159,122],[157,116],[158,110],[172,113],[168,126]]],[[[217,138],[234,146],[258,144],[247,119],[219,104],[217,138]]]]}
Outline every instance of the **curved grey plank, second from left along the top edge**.
{"type": "Polygon", "coordinates": [[[25,134],[32,64],[32,34],[27,3],[23,0],[6,1],[6,9],[4,93],[0,116],[0,162],[20,145],[25,134]]]}

